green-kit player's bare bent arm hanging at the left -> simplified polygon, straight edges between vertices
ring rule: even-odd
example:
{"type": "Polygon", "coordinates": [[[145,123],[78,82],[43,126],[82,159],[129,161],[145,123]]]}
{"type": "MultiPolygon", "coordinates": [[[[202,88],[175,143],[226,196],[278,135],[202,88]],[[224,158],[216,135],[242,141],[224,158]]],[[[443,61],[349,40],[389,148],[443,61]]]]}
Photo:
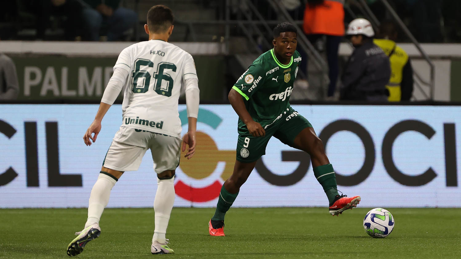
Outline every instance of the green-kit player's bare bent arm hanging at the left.
{"type": "Polygon", "coordinates": [[[262,128],[261,124],[254,121],[251,115],[248,113],[248,110],[245,107],[245,103],[243,102],[242,95],[236,90],[231,89],[228,98],[232,108],[234,108],[235,112],[240,117],[240,119],[242,119],[243,123],[247,125],[248,132],[250,132],[253,137],[266,136],[266,131],[262,128]]]}

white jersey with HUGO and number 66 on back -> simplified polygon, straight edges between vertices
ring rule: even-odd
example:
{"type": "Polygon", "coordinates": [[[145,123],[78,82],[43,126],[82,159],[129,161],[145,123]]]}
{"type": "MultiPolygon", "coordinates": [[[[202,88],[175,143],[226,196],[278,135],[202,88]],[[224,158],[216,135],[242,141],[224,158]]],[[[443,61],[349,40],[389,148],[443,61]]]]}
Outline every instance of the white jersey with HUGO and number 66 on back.
{"type": "Polygon", "coordinates": [[[129,72],[122,126],[180,136],[177,104],[181,85],[188,78],[197,78],[192,56],[163,40],[148,40],[120,52],[116,68],[129,72]]]}

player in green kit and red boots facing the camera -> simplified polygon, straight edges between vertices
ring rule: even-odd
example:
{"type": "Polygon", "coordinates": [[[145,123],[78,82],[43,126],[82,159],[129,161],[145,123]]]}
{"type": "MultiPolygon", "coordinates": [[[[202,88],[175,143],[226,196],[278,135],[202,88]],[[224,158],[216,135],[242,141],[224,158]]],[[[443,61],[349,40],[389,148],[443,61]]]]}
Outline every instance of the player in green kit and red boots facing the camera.
{"type": "Polygon", "coordinates": [[[208,224],[211,236],[224,236],[225,213],[256,161],[266,154],[272,136],[310,155],[315,178],[330,202],[331,215],[339,215],[360,202],[360,196],[338,194],[336,176],[322,141],[310,122],[290,106],[293,82],[301,63],[296,37],[291,23],[278,24],[274,28],[274,48],[254,60],[229,92],[229,101],[239,116],[237,157],[234,172],[223,184],[216,212],[208,224]]]}

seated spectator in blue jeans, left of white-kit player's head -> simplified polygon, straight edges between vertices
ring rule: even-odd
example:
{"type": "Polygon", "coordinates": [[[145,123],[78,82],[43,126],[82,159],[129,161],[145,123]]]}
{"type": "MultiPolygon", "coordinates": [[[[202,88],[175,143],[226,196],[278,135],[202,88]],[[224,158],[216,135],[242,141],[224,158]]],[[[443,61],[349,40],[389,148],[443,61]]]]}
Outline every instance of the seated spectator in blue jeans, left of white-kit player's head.
{"type": "Polygon", "coordinates": [[[99,40],[101,27],[107,28],[107,40],[120,40],[124,33],[136,25],[137,14],[119,7],[120,0],[84,0],[84,40],[99,40]]]}

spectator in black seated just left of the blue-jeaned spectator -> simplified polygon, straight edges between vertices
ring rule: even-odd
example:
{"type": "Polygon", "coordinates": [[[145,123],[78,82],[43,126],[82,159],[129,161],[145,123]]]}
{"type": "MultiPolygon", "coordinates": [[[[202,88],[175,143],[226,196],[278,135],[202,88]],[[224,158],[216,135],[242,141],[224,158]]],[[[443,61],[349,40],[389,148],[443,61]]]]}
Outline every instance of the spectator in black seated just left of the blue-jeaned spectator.
{"type": "Polygon", "coordinates": [[[40,0],[37,2],[37,40],[45,39],[50,17],[63,17],[65,40],[77,40],[82,32],[82,4],[78,0],[40,0]]]}

